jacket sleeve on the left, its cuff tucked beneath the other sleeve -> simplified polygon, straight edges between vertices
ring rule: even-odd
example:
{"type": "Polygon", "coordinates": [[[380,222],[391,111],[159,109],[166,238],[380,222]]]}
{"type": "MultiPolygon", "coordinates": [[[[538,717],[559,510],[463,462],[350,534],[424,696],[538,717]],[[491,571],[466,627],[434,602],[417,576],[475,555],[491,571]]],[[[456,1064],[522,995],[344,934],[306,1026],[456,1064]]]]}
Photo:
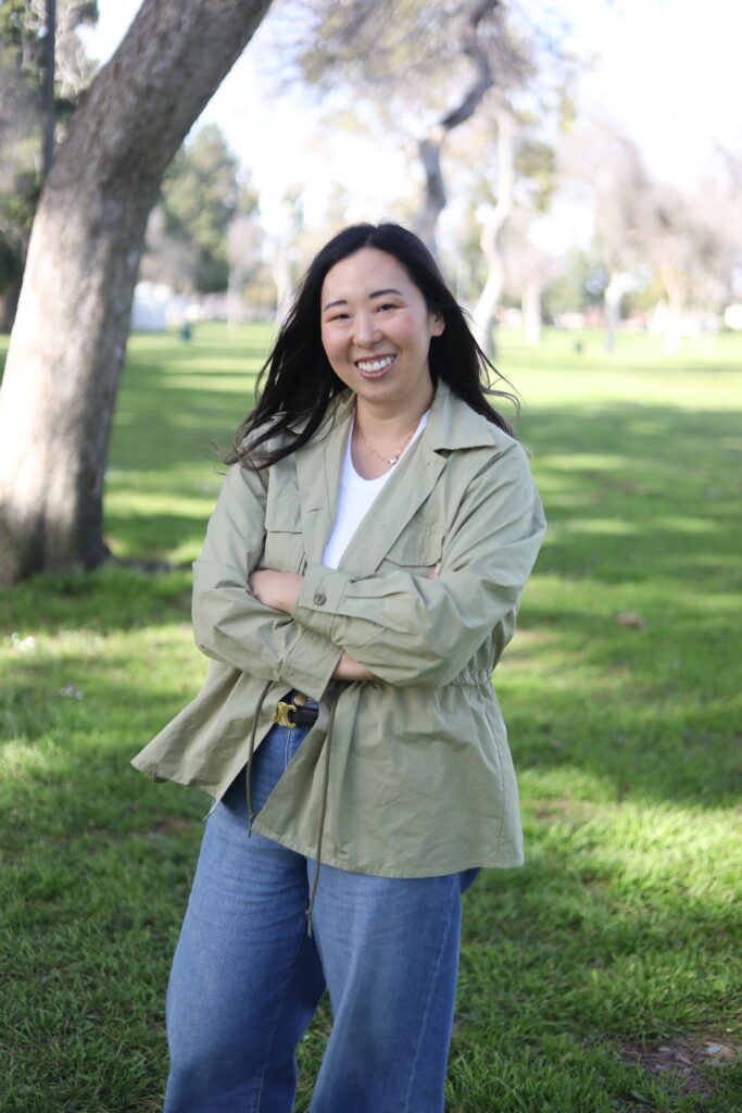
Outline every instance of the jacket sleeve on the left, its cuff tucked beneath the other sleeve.
{"type": "Polygon", "coordinates": [[[234,465],[194,563],[194,637],[207,657],[260,680],[319,699],[342,650],[250,594],[247,580],[265,540],[266,486],[260,473],[234,465]]]}

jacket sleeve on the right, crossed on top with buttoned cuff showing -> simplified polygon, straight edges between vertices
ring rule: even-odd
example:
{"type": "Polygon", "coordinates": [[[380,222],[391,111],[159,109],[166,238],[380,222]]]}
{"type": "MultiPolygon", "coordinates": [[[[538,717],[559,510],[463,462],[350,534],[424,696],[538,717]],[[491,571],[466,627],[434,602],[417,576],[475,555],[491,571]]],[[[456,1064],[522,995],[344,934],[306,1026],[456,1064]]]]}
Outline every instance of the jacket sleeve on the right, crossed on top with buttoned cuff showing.
{"type": "Polygon", "coordinates": [[[517,443],[469,483],[445,539],[441,572],[357,577],[309,565],[294,611],[392,684],[451,682],[501,627],[506,641],[546,529],[517,443]]]}

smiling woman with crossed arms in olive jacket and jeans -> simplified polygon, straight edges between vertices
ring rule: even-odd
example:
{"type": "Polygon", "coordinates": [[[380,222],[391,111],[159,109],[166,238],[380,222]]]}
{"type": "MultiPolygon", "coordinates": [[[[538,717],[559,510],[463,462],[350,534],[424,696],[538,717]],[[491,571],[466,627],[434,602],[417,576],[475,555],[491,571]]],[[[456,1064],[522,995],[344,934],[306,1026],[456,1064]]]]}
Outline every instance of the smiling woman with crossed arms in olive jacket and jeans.
{"type": "Polygon", "coordinates": [[[289,1113],[325,987],[311,1113],[443,1110],[461,897],[522,861],[491,678],[544,531],[486,370],[394,224],[327,244],[264,367],[195,564],[206,683],[135,760],[218,801],[166,1113],[289,1113]]]}

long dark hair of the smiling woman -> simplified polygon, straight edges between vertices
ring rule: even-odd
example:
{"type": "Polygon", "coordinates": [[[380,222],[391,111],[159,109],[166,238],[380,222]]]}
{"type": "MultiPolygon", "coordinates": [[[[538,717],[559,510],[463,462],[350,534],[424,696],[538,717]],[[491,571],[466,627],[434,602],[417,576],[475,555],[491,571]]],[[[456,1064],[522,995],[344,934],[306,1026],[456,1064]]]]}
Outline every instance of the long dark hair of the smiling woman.
{"type": "Polygon", "coordinates": [[[239,426],[224,463],[240,462],[259,471],[296,452],[317,432],[329,402],[345,390],[323,348],[320,296],[327,272],[362,247],[375,247],[394,256],[419,289],[428,311],[443,315],[445,328],[441,336],[432,338],[428,353],[433,385],[446,383],[472,410],[512,435],[511,426],[488,398],[507,398],[516,413],[517,398],[489,385],[493,374],[502,376],[472,335],[464,311],[425,244],[398,224],[356,224],[334,236],[310,264],[258,375],[257,404],[239,426]],[[264,427],[253,436],[259,426],[264,427]],[[286,432],[291,435],[288,443],[256,454],[266,441],[286,432]]]}

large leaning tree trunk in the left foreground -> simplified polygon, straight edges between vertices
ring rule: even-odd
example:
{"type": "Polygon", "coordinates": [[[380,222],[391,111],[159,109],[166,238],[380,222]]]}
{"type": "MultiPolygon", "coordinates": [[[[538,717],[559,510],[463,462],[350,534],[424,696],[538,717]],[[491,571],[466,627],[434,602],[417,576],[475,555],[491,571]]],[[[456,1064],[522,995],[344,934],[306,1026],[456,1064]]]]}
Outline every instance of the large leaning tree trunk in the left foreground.
{"type": "Polygon", "coordinates": [[[106,560],[103,471],[147,216],[270,0],[145,0],[43,188],[0,391],[0,583],[106,560]]]}

